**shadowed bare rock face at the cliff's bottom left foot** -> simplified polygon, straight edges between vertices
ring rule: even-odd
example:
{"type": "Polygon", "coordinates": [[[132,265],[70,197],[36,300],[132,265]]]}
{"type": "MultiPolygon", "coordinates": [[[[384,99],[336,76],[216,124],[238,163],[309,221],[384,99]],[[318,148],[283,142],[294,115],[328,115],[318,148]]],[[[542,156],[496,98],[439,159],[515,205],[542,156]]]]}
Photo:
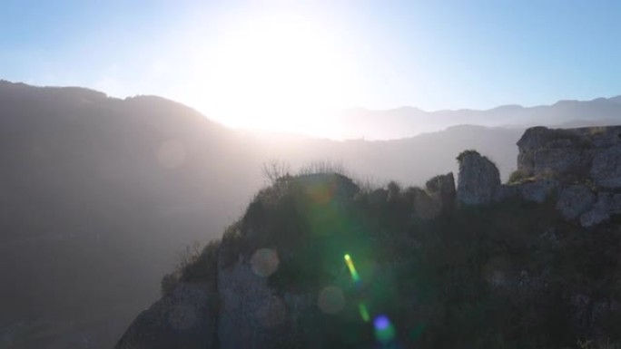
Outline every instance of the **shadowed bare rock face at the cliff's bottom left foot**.
{"type": "Polygon", "coordinates": [[[216,348],[217,305],[207,284],[179,284],[138,315],[115,348],[216,348]]]}

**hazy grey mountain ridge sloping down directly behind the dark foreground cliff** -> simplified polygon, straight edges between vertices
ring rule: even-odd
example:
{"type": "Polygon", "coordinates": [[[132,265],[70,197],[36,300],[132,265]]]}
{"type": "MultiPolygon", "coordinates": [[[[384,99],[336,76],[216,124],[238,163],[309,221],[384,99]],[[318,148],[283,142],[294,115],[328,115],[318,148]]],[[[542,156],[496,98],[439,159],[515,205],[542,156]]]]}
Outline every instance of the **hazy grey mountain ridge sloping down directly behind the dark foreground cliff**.
{"type": "Polygon", "coordinates": [[[184,248],[220,237],[266,184],[261,164],[342,163],[409,186],[473,149],[507,179],[523,131],[329,141],[232,131],[155,96],[13,82],[0,106],[0,346],[13,348],[111,347],[184,248]]]}

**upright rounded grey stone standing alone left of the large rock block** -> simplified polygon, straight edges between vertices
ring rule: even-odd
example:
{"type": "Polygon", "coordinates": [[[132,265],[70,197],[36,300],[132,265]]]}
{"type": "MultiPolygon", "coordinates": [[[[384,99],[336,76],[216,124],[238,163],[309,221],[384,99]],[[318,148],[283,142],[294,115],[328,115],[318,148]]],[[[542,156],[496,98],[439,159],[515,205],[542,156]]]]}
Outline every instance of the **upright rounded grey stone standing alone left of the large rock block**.
{"type": "Polygon", "coordinates": [[[500,188],[500,174],[496,165],[477,151],[459,154],[457,198],[466,205],[488,204],[500,188]]]}

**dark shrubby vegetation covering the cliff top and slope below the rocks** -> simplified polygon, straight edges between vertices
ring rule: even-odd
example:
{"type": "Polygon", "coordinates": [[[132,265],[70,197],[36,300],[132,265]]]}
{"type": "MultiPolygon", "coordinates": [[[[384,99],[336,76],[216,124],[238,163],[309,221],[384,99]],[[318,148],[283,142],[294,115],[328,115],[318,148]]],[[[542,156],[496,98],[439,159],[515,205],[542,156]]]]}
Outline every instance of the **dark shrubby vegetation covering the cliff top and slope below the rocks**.
{"type": "Polygon", "coordinates": [[[272,347],[313,347],[318,337],[335,348],[620,343],[618,221],[586,231],[561,218],[551,200],[429,209],[437,203],[429,189],[392,183],[361,190],[338,173],[283,175],[175,282],[206,281],[216,290],[219,270],[252,264],[259,250],[274,252],[276,267],[259,274],[287,312],[258,331],[278,333],[291,323],[305,330],[272,347]],[[337,295],[330,306],[327,289],[337,295]],[[295,296],[311,297],[314,306],[294,309],[287,299],[295,296]],[[374,318],[389,319],[394,335],[380,338],[374,318]]]}

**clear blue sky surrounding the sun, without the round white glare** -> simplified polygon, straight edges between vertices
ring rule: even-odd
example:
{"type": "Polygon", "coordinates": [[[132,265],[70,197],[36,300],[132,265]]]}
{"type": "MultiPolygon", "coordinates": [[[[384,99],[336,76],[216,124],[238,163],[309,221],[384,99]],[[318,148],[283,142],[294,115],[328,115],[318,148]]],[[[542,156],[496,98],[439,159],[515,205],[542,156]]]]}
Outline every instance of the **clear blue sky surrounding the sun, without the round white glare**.
{"type": "Polygon", "coordinates": [[[188,91],[210,75],[197,64],[226,31],[273,11],[336,38],[357,77],[342,107],[482,109],[621,94],[621,1],[612,0],[4,0],[0,79],[190,104],[200,96],[201,109],[209,93],[188,91]]]}

